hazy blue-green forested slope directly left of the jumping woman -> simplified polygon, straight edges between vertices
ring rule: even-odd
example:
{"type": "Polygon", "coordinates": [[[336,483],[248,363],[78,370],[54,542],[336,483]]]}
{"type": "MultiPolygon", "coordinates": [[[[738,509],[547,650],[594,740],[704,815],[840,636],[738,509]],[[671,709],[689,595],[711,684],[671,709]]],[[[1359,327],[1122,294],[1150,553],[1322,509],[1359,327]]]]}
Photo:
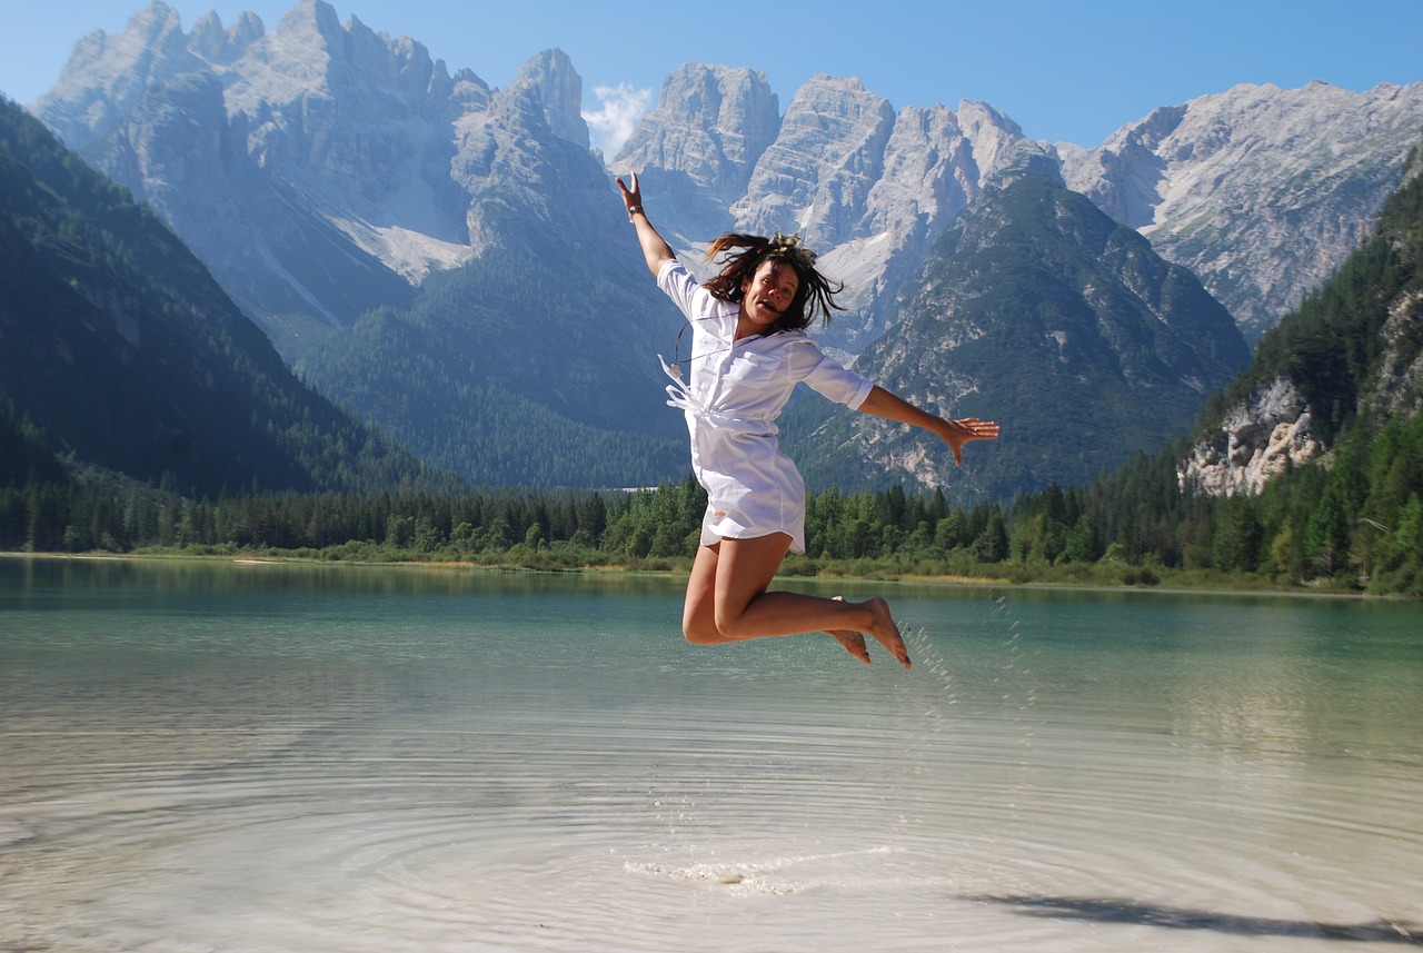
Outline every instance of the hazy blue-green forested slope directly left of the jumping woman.
{"type": "Polygon", "coordinates": [[[635,297],[583,257],[552,239],[539,256],[491,249],[431,276],[411,309],[366,314],[300,371],[480,485],[676,479],[689,469],[686,428],[656,400],[652,341],[657,327],[670,344],[677,319],[650,280],[635,297]]]}

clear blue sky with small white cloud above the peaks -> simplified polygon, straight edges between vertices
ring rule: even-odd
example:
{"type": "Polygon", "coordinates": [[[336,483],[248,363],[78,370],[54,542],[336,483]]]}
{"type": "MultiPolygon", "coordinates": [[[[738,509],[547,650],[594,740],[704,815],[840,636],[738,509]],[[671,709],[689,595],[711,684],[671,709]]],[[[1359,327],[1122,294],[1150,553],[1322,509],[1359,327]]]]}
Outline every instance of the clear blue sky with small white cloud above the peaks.
{"type": "MultiPolygon", "coordinates": [[[[295,0],[166,0],[185,30],[252,10],[270,31],[295,0]]],[[[74,43],[114,34],[144,0],[0,0],[0,92],[33,102],[74,43]]],[[[817,73],[855,75],[896,108],[988,102],[1036,139],[1097,145],[1118,127],[1237,82],[1348,90],[1423,80],[1419,0],[334,0],[373,30],[423,43],[450,71],[505,85],[561,47],[583,78],[595,141],[625,135],[684,63],[760,70],[781,108],[817,73]],[[736,10],[737,18],[729,13],[736,10]],[[751,11],[747,16],[746,11],[751,11]]]]}

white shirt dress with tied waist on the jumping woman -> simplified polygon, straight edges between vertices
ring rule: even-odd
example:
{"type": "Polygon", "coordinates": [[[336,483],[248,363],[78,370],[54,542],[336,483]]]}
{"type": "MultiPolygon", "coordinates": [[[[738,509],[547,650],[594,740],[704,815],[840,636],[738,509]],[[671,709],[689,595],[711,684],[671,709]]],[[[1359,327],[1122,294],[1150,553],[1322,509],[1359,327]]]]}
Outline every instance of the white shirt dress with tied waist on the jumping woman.
{"type": "Polygon", "coordinates": [[[692,326],[689,380],[680,366],[663,368],[673,378],[667,404],[686,415],[692,469],[707,491],[702,545],[781,532],[791,552],[805,552],[805,481],[780,452],[774,421],[800,381],[851,408],[874,384],[803,331],[734,340],[740,306],[712,297],[676,259],[662,266],[657,287],[692,326]]]}

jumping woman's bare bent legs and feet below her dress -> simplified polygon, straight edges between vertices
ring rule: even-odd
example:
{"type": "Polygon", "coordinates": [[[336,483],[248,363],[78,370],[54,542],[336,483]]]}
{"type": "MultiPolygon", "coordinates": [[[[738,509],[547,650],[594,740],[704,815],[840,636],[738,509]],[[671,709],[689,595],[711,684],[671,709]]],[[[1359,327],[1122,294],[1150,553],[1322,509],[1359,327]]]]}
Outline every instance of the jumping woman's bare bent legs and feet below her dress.
{"type": "MultiPolygon", "coordinates": [[[[879,599],[861,603],[822,599],[795,592],[767,592],[781,566],[790,536],[771,533],[756,539],[721,539],[697,550],[687,582],[682,626],[689,641],[724,644],[767,636],[828,632],[855,657],[854,639],[838,633],[864,633],[909,667],[899,629],[889,605],[879,599]]],[[[867,653],[868,654],[868,653],[867,653]]]]}

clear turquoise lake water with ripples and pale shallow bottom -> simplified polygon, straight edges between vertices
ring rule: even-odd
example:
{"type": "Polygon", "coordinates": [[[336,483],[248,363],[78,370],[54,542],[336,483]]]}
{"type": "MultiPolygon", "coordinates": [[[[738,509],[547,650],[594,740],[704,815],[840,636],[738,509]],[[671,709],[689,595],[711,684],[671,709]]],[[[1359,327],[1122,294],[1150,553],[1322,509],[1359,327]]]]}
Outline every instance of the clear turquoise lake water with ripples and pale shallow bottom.
{"type": "Polygon", "coordinates": [[[0,949],[1423,944],[1423,607],[879,590],[0,559],[0,949]]]}

